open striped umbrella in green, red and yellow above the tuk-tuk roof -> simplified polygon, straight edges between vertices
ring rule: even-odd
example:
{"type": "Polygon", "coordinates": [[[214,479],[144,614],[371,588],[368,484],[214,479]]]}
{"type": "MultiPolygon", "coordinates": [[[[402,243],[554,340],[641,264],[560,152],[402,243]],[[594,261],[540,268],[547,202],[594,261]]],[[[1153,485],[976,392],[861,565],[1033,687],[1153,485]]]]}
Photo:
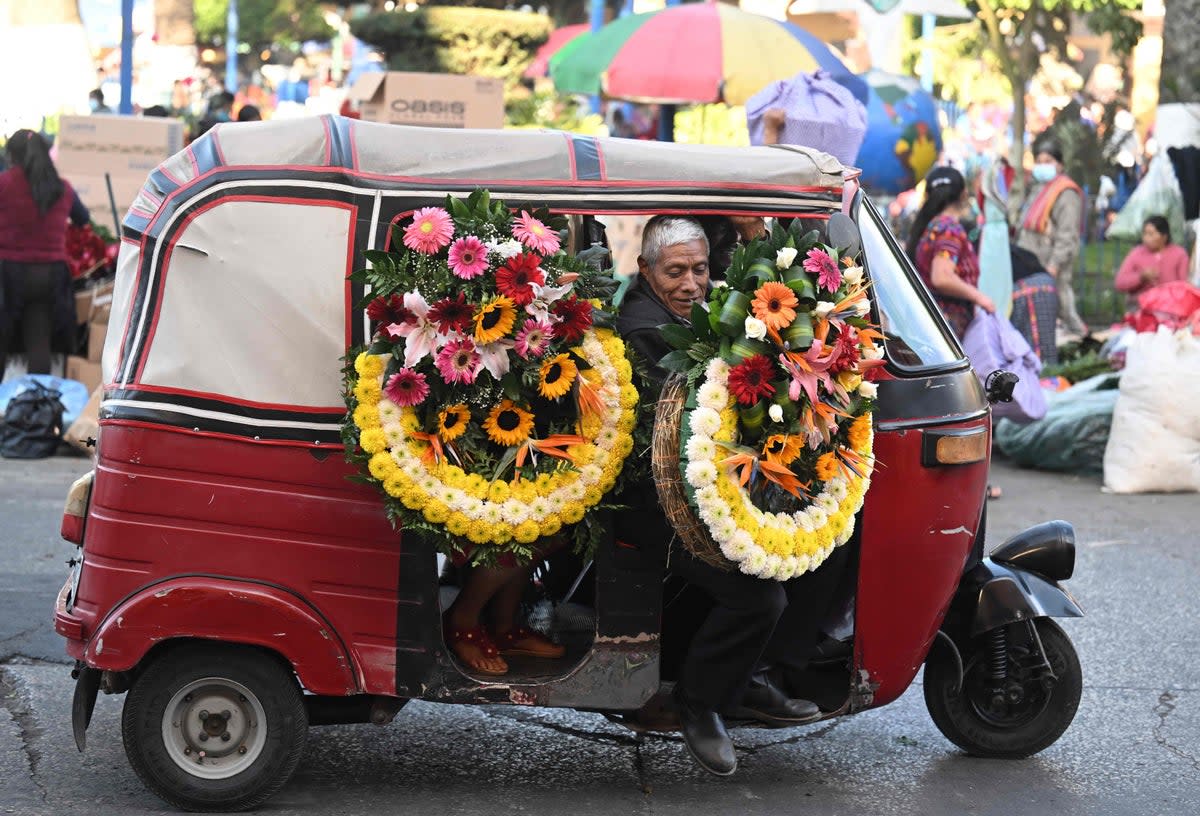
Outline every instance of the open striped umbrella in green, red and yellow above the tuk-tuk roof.
{"type": "Polygon", "coordinates": [[[814,35],[712,1],[618,18],[550,60],[564,94],[662,104],[742,104],[776,79],[818,68],[866,101],[866,84],[814,35]]]}

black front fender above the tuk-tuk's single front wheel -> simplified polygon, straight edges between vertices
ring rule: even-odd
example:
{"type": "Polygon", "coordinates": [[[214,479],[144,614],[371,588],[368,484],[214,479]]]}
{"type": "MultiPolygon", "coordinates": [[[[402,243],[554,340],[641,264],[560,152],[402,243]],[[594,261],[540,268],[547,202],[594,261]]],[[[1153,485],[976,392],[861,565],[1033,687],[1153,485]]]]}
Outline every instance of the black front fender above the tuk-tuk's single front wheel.
{"type": "Polygon", "coordinates": [[[964,576],[960,592],[976,596],[971,637],[1033,618],[1084,617],[1084,610],[1062,584],[990,558],[964,576]]]}

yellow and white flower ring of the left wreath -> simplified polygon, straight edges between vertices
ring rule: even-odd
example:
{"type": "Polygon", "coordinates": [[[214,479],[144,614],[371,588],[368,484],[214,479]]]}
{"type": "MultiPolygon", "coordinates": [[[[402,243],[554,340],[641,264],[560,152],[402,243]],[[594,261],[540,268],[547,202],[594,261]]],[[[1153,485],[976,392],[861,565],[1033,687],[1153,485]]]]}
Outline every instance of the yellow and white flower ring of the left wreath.
{"type": "Polygon", "coordinates": [[[574,467],[508,481],[466,473],[444,457],[430,462],[430,443],[412,436],[420,428],[416,410],[383,396],[386,355],[360,354],[353,419],[359,446],[371,455],[371,475],[406,508],[473,544],[532,544],[581,521],[612,490],[634,449],[637,390],[625,344],[611,330],[589,330],[578,350],[592,366],[582,376],[604,406],[580,422],[580,436],[589,442],[568,448],[574,467]]]}

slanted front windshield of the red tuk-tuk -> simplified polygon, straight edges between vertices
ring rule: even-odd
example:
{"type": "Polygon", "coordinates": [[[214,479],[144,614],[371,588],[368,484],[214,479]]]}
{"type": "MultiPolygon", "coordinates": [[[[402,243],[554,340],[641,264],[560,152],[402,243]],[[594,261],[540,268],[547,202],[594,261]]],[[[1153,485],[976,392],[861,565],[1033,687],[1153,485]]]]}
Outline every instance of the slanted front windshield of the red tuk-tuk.
{"type": "MultiPolygon", "coordinates": [[[[871,269],[871,257],[866,251],[866,229],[874,229],[878,238],[882,240],[883,245],[888,250],[888,256],[895,263],[898,271],[904,275],[905,281],[908,283],[908,292],[904,293],[907,296],[916,299],[923,307],[924,313],[929,318],[928,326],[912,326],[917,334],[926,341],[931,347],[936,347],[938,343],[944,346],[946,356],[944,359],[929,362],[925,365],[908,365],[899,361],[898,355],[894,354],[893,337],[890,331],[886,331],[887,337],[884,338],[884,350],[887,352],[888,368],[893,370],[898,376],[923,376],[932,372],[946,372],[956,371],[970,366],[970,361],[962,350],[962,346],[959,343],[958,337],[950,330],[949,324],[942,316],[942,311],[937,307],[934,301],[932,295],[930,295],[929,289],[925,283],[917,275],[917,270],[913,269],[912,262],[910,260],[907,253],[900,247],[892,230],[887,228],[883,223],[882,217],[871,204],[870,199],[859,192],[854,197],[853,203],[854,221],[858,223],[859,233],[863,236],[863,266],[866,270],[868,277],[872,281],[872,292],[875,292],[875,306],[880,312],[880,317],[883,318],[888,314],[888,295],[894,293],[894,288],[880,287],[876,281],[883,278],[881,270],[871,269]],[[864,217],[865,216],[865,217],[864,217]],[[932,329],[936,335],[931,334],[929,329],[932,329]]],[[[893,304],[894,306],[895,304],[893,304]]],[[[886,323],[886,320],[881,320],[886,323]]],[[[911,347],[910,347],[911,348],[911,347]]]]}

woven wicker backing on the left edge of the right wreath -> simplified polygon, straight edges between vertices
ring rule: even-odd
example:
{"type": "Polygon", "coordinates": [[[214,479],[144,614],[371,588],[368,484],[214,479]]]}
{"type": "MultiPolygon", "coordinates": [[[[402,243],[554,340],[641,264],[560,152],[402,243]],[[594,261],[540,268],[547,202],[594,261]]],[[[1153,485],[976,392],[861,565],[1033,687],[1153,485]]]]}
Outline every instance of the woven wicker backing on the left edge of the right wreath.
{"type": "Polygon", "coordinates": [[[655,408],[654,438],[650,445],[650,467],[659,491],[659,504],[688,552],[709,566],[731,571],[733,563],[721,553],[704,523],[696,518],[684,491],[683,473],[679,469],[679,430],[686,401],[686,379],[683,374],[672,374],[662,385],[662,395],[655,408]]]}

